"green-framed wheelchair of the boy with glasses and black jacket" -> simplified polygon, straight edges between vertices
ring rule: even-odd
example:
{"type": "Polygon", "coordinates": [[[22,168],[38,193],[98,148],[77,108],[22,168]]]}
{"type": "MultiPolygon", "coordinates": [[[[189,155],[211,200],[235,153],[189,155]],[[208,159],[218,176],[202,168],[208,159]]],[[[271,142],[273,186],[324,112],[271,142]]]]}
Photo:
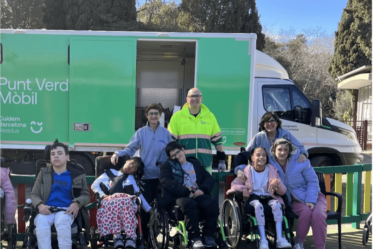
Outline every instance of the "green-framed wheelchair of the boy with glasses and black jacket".
{"type": "MultiPolygon", "coordinates": [[[[179,206],[168,205],[163,208],[157,207],[157,200],[151,204],[154,209],[154,224],[149,228],[150,245],[153,249],[167,249],[169,242],[173,242],[173,249],[179,248],[182,242],[185,249],[189,249],[188,237],[186,235],[185,217],[179,206]],[[170,235],[170,228],[175,228],[176,233],[170,235]]],[[[203,218],[203,217],[200,217],[203,218]]],[[[202,226],[200,222],[200,227],[202,226]]],[[[215,243],[219,249],[227,246],[223,225],[217,220],[216,231],[214,234],[215,243]]]]}

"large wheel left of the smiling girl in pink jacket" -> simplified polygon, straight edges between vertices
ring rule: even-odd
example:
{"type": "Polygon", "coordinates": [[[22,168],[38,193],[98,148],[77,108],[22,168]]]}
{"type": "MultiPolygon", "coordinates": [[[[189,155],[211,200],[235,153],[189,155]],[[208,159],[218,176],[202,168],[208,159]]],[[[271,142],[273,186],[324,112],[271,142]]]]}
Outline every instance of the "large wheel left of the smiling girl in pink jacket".
{"type": "Polygon", "coordinates": [[[236,248],[241,242],[242,221],[238,204],[232,197],[223,202],[222,222],[228,247],[236,248]]]}

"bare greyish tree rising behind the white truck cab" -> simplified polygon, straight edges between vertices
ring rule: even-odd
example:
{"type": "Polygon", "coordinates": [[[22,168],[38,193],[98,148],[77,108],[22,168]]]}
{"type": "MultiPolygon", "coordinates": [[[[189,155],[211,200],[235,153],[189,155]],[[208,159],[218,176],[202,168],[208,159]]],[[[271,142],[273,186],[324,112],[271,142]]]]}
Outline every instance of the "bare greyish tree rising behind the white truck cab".
{"type": "Polygon", "coordinates": [[[337,86],[327,72],[333,53],[334,37],[316,27],[297,34],[294,29],[266,33],[264,52],[276,59],[309,99],[320,99],[323,114],[333,116],[337,86]]]}

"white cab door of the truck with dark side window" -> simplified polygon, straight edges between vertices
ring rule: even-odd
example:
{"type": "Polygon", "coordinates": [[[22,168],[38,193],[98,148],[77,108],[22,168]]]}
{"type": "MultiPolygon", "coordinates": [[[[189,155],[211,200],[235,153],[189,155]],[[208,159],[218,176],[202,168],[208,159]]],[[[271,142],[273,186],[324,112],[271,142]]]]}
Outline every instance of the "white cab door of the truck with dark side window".
{"type": "Polygon", "coordinates": [[[317,128],[310,125],[311,103],[295,85],[263,85],[258,90],[263,96],[263,103],[258,102],[258,113],[276,112],[282,128],[290,131],[305,149],[317,146],[317,128]]]}

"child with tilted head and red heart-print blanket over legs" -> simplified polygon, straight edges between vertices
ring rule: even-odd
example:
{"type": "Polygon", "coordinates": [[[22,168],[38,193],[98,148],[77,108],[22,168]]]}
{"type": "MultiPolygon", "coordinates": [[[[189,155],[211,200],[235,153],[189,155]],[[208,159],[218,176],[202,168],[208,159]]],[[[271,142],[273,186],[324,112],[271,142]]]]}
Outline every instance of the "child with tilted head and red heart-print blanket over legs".
{"type": "MultiPolygon", "coordinates": [[[[97,211],[97,227],[100,236],[113,234],[114,249],[136,248],[136,227],[138,220],[136,212],[139,206],[135,203],[135,195],[139,188],[134,175],[141,179],[144,173],[144,163],[140,157],[132,157],[124,166],[116,171],[106,169],[91,185],[93,192],[101,197],[101,207],[97,211]],[[123,237],[126,234],[124,245],[123,237]]],[[[142,208],[150,214],[150,226],[154,221],[154,211],[151,209],[144,196],[140,194],[142,208]]]]}

